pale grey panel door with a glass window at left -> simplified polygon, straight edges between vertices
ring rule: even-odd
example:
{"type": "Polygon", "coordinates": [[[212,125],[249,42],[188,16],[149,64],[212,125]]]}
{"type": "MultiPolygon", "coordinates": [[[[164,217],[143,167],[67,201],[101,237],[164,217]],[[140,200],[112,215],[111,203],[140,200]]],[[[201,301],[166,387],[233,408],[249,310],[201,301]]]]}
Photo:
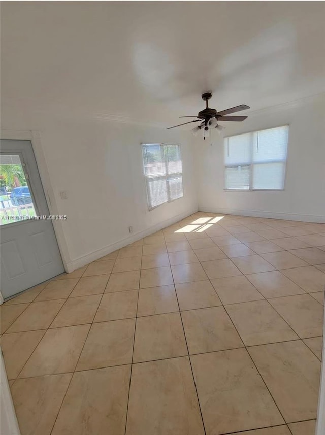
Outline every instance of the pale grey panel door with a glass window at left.
{"type": "Polygon", "coordinates": [[[64,272],[29,141],[0,148],[1,292],[6,299],[64,272]],[[36,219],[37,218],[37,219],[36,219]]]}

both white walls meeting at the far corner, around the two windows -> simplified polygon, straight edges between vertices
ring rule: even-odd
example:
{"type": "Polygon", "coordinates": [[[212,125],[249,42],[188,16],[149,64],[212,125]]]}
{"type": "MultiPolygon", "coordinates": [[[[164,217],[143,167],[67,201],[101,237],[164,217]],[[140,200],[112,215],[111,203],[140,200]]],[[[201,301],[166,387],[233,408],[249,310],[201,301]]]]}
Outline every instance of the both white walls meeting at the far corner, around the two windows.
{"type": "MultiPolygon", "coordinates": [[[[55,223],[69,271],[131,243],[178,216],[198,209],[277,218],[325,221],[325,99],[251,112],[229,123],[226,135],[290,124],[285,190],[225,192],[223,139],[213,145],[188,131],[112,122],[81,115],[2,110],[2,129],[38,130],[48,168],[51,211],[68,220],[55,223]],[[148,211],[141,142],[182,145],[184,198],[148,211]],[[59,192],[67,190],[68,199],[59,192]],[[134,228],[129,235],[128,227],[134,228]]],[[[17,135],[18,138],[19,135],[17,135]]],[[[37,154],[38,157],[38,154],[37,154]]],[[[39,165],[44,166],[42,161],[39,165]]],[[[42,175],[42,168],[41,175],[42,175]]]]}

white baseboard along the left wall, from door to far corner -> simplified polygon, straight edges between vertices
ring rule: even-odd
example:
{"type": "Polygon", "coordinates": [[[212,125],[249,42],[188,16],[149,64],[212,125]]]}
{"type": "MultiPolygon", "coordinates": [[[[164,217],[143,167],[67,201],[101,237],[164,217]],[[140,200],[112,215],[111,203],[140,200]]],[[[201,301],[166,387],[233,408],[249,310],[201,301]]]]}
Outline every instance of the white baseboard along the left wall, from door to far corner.
{"type": "Polygon", "coordinates": [[[196,213],[198,211],[197,208],[189,210],[185,213],[181,213],[177,216],[173,216],[170,219],[167,219],[163,222],[160,222],[156,225],[153,225],[143,231],[139,231],[137,233],[134,233],[131,236],[125,237],[124,239],[121,239],[117,242],[114,242],[108,246],[105,246],[102,249],[99,249],[94,252],[90,252],[89,254],[83,255],[82,257],[77,258],[76,260],[71,261],[70,263],[66,264],[66,272],[71,273],[76,269],[79,269],[79,267],[85,266],[86,264],[91,263],[92,261],[98,260],[101,257],[104,257],[107,254],[110,254],[111,252],[116,251],[117,249],[123,248],[124,246],[129,245],[130,243],[136,242],[137,240],[140,240],[146,236],[150,236],[156,231],[159,231],[160,229],[166,228],[169,225],[172,225],[175,222],[178,222],[185,217],[196,213]]]}

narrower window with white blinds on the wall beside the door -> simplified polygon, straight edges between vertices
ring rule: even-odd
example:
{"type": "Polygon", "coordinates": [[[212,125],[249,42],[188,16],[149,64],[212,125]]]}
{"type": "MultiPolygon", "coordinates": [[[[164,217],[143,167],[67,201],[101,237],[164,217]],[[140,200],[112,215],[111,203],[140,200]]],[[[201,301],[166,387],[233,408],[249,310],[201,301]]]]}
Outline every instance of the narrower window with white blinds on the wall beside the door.
{"type": "Polygon", "coordinates": [[[180,145],[143,144],[142,155],[149,210],[184,196],[180,145]]]}

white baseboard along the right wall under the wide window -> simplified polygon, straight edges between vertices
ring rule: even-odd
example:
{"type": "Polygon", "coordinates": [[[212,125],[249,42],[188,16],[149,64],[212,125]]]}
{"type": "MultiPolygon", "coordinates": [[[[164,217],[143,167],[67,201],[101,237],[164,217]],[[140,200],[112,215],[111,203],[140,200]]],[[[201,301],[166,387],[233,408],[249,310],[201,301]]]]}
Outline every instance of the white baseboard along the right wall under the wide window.
{"type": "Polygon", "coordinates": [[[224,209],[221,207],[199,207],[200,212],[223,213],[227,215],[264,217],[271,219],[297,220],[302,222],[325,223],[325,216],[303,215],[298,213],[275,213],[263,210],[224,209]]]}

